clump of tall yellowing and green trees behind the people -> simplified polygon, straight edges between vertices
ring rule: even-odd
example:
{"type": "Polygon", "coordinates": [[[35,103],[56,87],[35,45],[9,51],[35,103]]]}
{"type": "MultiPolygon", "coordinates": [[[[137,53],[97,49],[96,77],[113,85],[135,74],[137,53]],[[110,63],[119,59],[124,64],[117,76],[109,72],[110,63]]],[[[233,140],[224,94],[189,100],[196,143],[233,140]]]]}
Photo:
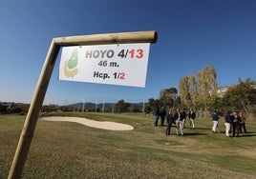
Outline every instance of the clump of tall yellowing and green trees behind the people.
{"type": "Polygon", "coordinates": [[[150,98],[147,110],[158,106],[170,108],[197,109],[203,116],[213,110],[224,113],[227,110],[244,110],[256,114],[256,83],[250,78],[239,79],[237,85],[226,87],[224,92],[217,85],[217,72],[213,66],[205,66],[196,75],[181,78],[179,89],[161,89],[158,99],[150,98]],[[179,91],[179,93],[178,93],[179,91]]]}

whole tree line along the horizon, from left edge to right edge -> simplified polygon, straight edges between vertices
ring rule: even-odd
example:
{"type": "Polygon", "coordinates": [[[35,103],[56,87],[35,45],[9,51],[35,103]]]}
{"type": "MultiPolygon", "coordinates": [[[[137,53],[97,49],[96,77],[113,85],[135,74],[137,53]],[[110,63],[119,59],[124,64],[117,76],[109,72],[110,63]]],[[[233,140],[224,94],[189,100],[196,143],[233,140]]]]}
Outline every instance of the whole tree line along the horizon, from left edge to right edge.
{"type": "MultiPolygon", "coordinates": [[[[179,89],[160,89],[157,99],[150,98],[147,103],[130,104],[120,99],[115,108],[104,110],[109,112],[150,112],[157,107],[196,109],[203,117],[213,110],[223,114],[227,110],[243,110],[246,114],[256,114],[256,82],[250,78],[239,79],[237,85],[226,87],[221,92],[217,85],[217,72],[213,66],[205,66],[196,75],[189,74],[181,78],[179,89]]],[[[27,113],[30,104],[0,104],[0,114],[27,113]]],[[[43,106],[44,111],[62,110],[64,107],[55,105],[43,106]]],[[[73,109],[75,110],[75,109],[73,109]]],[[[95,109],[92,109],[92,111],[95,109]]],[[[97,109],[100,111],[100,109],[97,109]]]]}

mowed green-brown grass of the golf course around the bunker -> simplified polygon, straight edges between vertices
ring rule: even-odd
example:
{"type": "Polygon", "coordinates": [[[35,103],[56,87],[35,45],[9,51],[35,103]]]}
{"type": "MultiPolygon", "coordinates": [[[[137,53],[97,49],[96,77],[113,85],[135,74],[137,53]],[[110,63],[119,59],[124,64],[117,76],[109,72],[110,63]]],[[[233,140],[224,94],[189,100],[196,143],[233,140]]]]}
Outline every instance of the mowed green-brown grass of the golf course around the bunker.
{"type": "MultiPolygon", "coordinates": [[[[152,115],[56,114],[135,129],[39,120],[22,178],[256,178],[256,120],[246,123],[248,134],[226,138],[223,118],[221,133],[212,133],[205,118],[196,120],[196,129],[184,129],[184,136],[166,136],[165,127],[153,126],[152,115]]],[[[8,177],[24,121],[25,116],[0,116],[0,178],[8,177]]]]}

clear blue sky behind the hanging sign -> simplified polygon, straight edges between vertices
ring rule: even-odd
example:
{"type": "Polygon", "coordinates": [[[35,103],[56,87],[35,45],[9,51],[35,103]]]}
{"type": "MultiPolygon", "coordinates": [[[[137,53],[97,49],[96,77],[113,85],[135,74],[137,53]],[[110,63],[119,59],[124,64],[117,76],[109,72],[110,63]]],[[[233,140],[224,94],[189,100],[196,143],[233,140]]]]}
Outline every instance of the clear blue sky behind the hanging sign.
{"type": "Polygon", "coordinates": [[[215,67],[219,86],[256,79],[254,0],[1,0],[0,24],[0,101],[31,103],[50,43],[61,36],[159,34],[145,88],[59,81],[59,53],[44,104],[147,101],[205,65],[215,67]]]}

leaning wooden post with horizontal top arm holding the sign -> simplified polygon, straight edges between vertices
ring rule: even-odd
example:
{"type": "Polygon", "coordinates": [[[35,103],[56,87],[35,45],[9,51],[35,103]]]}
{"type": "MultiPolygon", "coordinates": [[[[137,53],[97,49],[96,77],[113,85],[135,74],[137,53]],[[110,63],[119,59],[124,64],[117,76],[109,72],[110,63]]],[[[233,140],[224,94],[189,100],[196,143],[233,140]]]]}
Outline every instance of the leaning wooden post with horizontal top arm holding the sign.
{"type": "Polygon", "coordinates": [[[21,177],[29,149],[31,147],[32,136],[39,117],[39,112],[53,73],[53,67],[58,51],[61,47],[126,43],[156,43],[157,38],[158,34],[156,31],[106,33],[53,38],[32,96],[31,107],[19,138],[8,178],[17,179],[21,177]]]}

